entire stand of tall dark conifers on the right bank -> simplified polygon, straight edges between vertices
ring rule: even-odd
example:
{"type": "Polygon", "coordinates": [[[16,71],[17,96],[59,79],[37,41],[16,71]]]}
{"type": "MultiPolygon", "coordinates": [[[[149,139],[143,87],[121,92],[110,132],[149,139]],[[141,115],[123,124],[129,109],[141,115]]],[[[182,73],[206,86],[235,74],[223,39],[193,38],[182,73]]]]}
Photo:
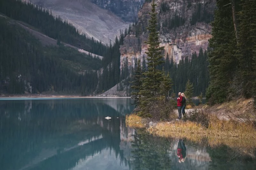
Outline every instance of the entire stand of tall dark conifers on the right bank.
{"type": "Polygon", "coordinates": [[[209,103],[256,97],[256,1],[217,1],[209,47],[209,103]]]}

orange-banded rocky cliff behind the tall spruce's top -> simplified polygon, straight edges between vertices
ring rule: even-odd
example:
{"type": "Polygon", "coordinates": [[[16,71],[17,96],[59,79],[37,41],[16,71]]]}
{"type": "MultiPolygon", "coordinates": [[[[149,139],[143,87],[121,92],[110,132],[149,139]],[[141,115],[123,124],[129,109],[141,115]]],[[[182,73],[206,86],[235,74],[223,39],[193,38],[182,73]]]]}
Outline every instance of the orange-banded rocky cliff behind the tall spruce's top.
{"type": "MultiPolygon", "coordinates": [[[[160,41],[165,47],[164,57],[168,54],[174,62],[193,52],[199,53],[200,48],[207,49],[211,38],[211,25],[215,9],[214,1],[206,0],[158,0],[158,28],[160,41]]],[[[131,34],[124,39],[120,47],[120,69],[128,59],[129,67],[134,67],[135,58],[146,56],[148,32],[146,30],[151,3],[146,2],[138,12],[138,23],[132,27],[131,34]]]]}

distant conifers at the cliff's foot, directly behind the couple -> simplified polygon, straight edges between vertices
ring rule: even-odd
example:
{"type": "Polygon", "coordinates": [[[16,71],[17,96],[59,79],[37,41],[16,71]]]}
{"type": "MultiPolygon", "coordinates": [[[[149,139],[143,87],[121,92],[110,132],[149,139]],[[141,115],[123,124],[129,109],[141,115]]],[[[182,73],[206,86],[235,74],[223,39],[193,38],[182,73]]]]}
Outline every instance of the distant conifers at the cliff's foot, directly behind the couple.
{"type": "Polygon", "coordinates": [[[173,92],[184,92],[186,83],[189,80],[193,84],[193,96],[199,96],[201,93],[205,96],[206,89],[209,84],[207,51],[203,52],[201,48],[199,54],[192,54],[191,60],[188,57],[180,60],[176,65],[169,54],[166,56],[165,70],[170,73],[174,82],[173,92]]]}

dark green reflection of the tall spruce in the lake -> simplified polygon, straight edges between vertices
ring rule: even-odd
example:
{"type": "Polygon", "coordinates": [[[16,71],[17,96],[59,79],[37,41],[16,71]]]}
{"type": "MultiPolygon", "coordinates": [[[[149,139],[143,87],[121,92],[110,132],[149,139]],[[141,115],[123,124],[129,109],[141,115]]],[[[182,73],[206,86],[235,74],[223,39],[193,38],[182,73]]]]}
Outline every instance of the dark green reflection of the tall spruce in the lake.
{"type": "Polygon", "coordinates": [[[145,130],[137,130],[132,146],[134,148],[131,162],[134,169],[170,169],[171,160],[169,157],[170,141],[166,138],[153,137],[145,130]]]}

